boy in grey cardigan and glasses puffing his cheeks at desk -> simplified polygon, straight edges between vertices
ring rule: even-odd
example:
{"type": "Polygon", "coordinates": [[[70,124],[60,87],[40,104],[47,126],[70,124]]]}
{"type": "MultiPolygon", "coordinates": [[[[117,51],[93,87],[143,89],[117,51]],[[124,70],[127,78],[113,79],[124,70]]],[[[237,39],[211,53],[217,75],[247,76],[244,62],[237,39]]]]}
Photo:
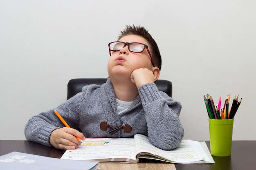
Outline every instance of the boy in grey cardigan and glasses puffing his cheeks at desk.
{"type": "Polygon", "coordinates": [[[155,40],[144,27],[126,26],[118,42],[109,44],[109,51],[107,82],[84,86],[83,92],[60,106],[31,117],[25,127],[28,140],[73,150],[81,145],[76,137],[133,137],[139,133],[164,150],[180,144],[184,136],[181,104],[158,91],[154,83],[162,62],[155,40]],[[54,110],[71,128],[63,125],[54,110]]]}

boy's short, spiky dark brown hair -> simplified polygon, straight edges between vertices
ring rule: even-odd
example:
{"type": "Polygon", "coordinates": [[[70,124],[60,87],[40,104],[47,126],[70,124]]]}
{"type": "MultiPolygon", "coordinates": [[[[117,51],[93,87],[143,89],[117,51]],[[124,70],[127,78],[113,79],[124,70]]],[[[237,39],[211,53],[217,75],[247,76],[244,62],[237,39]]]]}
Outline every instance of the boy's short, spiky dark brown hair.
{"type": "Polygon", "coordinates": [[[119,35],[118,40],[120,40],[121,38],[123,38],[126,35],[139,35],[139,36],[145,38],[149,43],[150,54],[153,58],[154,65],[156,67],[158,67],[159,70],[161,70],[162,58],[161,58],[157,43],[152,38],[152,36],[148,33],[148,30],[146,28],[144,28],[143,26],[126,25],[126,28],[123,31],[121,31],[121,34],[119,35]]]}

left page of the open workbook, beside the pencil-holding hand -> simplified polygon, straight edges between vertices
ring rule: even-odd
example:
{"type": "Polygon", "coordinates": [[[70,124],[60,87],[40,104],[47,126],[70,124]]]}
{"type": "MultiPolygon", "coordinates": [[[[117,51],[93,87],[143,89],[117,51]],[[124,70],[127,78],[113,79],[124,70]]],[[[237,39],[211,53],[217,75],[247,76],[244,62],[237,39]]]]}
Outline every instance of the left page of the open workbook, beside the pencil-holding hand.
{"type": "Polygon", "coordinates": [[[61,159],[99,160],[124,158],[135,159],[133,138],[86,138],[79,148],[67,150],[61,159]]]}

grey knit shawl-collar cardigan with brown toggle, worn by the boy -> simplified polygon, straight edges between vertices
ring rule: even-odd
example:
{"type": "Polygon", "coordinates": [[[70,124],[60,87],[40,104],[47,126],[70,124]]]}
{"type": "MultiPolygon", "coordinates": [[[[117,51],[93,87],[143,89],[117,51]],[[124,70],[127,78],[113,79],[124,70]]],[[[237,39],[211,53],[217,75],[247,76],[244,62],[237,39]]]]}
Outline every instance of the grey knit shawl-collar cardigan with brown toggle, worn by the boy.
{"type": "Polygon", "coordinates": [[[114,89],[110,79],[101,86],[84,86],[81,93],[68,99],[60,106],[31,117],[25,126],[28,140],[51,146],[49,137],[53,130],[64,127],[54,110],[72,128],[79,127],[88,138],[133,137],[143,134],[149,137],[154,146],[171,150],[176,148],[184,136],[179,114],[181,104],[166,93],[158,91],[154,83],[147,83],[138,88],[139,95],[131,106],[117,114],[114,89]],[[101,130],[101,122],[109,126],[131,126],[130,132],[124,129],[110,135],[108,130],[101,130]]]}

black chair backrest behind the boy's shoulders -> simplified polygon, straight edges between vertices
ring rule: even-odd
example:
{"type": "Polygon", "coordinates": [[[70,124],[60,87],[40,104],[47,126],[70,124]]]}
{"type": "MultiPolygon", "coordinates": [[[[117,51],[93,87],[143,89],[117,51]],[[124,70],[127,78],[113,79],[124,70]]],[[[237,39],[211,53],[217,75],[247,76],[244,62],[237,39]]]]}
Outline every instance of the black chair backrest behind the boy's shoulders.
{"type": "MultiPolygon", "coordinates": [[[[83,86],[90,84],[102,85],[106,83],[106,78],[82,78],[82,79],[71,79],[67,84],[67,99],[70,99],[77,93],[82,91],[83,86]]],[[[165,92],[167,95],[172,97],[172,83],[168,80],[158,79],[155,84],[159,91],[165,92]]]]}

